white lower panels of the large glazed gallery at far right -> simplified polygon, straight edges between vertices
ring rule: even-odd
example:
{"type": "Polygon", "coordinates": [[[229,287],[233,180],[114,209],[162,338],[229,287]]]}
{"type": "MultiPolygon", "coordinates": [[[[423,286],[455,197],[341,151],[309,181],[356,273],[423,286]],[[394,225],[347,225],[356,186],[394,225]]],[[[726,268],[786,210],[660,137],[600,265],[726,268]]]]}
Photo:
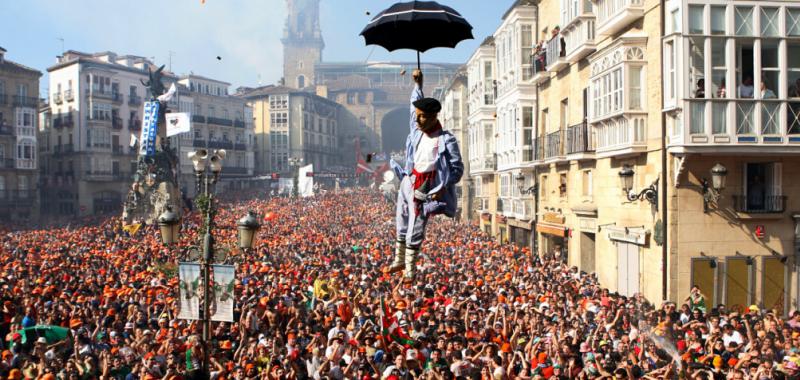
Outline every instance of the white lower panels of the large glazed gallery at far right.
{"type": "Polygon", "coordinates": [[[683,104],[683,124],[669,131],[670,152],[800,152],[800,102],[684,99],[683,104]]]}

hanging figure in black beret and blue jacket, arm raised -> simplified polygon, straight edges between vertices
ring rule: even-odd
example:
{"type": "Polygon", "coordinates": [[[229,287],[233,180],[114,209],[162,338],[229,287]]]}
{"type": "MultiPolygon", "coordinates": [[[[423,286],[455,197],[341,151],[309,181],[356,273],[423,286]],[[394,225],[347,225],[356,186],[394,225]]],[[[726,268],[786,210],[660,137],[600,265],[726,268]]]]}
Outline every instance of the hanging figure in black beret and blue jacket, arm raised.
{"type": "Polygon", "coordinates": [[[397,193],[397,242],[392,264],[384,273],[404,270],[403,281],[414,282],[416,259],[425,239],[428,218],[444,214],[456,215],[456,184],[464,174],[458,142],[452,133],[442,129],[437,116],[441,103],[422,95],[422,72],[412,74],[411,130],[406,138],[404,167],[394,160],[392,169],[400,180],[397,193]]]}

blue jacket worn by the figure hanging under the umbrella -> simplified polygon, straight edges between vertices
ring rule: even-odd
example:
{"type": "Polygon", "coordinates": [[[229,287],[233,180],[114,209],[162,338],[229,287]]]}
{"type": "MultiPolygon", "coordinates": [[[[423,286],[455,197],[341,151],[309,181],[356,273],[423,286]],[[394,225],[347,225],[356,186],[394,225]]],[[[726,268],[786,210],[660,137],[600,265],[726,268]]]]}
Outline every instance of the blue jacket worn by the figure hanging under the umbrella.
{"type": "MultiPolygon", "coordinates": [[[[391,161],[392,169],[400,180],[404,176],[411,175],[414,169],[414,150],[422,139],[422,131],[417,128],[417,113],[414,102],[422,98],[422,89],[415,85],[414,91],[411,92],[411,122],[409,125],[410,131],[408,137],[406,137],[405,167],[400,167],[394,160],[391,161]]],[[[430,197],[445,188],[440,201],[446,204],[444,214],[451,218],[455,217],[456,208],[458,207],[456,184],[461,180],[463,174],[464,163],[461,161],[458,141],[456,141],[456,137],[452,133],[442,130],[439,135],[439,152],[436,157],[436,178],[434,179],[434,186],[428,191],[428,196],[430,197]]]]}

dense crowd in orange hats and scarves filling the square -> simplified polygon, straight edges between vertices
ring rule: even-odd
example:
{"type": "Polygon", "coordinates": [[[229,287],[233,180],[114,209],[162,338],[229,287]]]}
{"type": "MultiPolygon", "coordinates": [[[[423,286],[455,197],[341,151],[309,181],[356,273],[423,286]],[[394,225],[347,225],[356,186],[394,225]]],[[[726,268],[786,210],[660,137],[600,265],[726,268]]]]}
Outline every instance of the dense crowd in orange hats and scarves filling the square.
{"type": "MultiPolygon", "coordinates": [[[[211,378],[800,378],[798,312],[738,314],[696,288],[678,304],[622,297],[447,218],[428,225],[404,285],[381,272],[394,218],[377,191],[232,199],[216,220],[237,281],[235,322],[212,325],[211,378]],[[235,223],[248,210],[266,220],[243,254],[235,223]]],[[[175,271],[200,225],[185,215],[176,247],[115,218],[3,231],[0,378],[202,378],[202,323],[176,318],[175,271]],[[67,334],[25,339],[42,325],[67,334]]]]}

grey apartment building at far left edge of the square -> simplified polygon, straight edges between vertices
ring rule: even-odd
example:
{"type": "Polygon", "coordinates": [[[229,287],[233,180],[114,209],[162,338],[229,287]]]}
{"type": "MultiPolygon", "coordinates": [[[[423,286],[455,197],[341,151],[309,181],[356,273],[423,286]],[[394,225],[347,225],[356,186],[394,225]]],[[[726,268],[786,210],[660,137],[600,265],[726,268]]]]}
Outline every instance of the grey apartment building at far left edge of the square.
{"type": "Polygon", "coordinates": [[[0,222],[38,217],[38,70],[0,47],[0,222]]]}

